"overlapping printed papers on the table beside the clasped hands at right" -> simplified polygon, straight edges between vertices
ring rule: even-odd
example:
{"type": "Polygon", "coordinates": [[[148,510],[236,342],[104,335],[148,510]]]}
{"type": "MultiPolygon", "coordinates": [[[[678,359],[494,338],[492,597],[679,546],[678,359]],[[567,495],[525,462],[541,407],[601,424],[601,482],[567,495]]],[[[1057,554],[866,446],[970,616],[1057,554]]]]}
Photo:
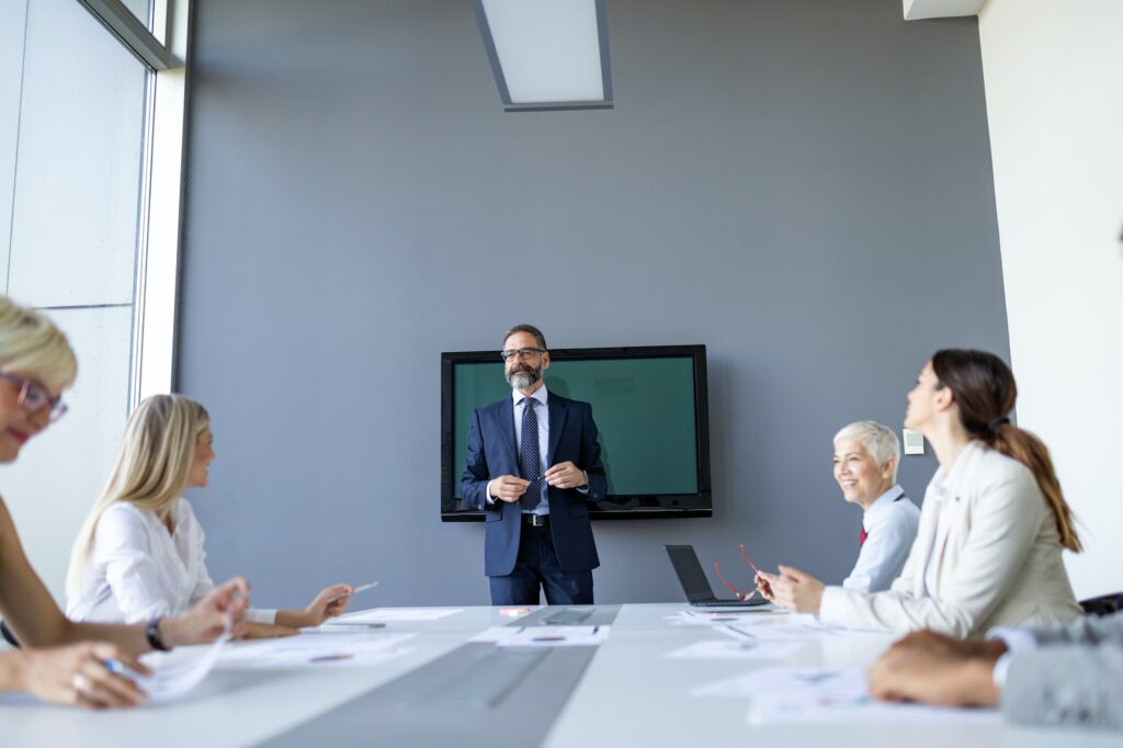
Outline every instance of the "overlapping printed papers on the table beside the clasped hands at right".
{"type": "Polygon", "coordinates": [[[858,668],[766,667],[691,691],[692,696],[749,699],[748,721],[775,722],[998,722],[995,710],[893,704],[869,696],[858,668]]]}

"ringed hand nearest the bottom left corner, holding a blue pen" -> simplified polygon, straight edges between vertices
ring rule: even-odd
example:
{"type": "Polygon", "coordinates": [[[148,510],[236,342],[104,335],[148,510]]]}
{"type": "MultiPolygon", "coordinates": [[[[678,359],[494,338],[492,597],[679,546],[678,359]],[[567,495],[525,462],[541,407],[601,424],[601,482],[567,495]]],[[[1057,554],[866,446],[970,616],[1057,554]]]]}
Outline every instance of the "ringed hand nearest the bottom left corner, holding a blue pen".
{"type": "Polygon", "coordinates": [[[43,701],[90,709],[135,706],[145,701],[135,682],[110,672],[107,664],[124,665],[141,675],[148,675],[148,668],[116,645],[85,641],[51,649],[24,649],[12,656],[21,660],[24,691],[43,701]]]}

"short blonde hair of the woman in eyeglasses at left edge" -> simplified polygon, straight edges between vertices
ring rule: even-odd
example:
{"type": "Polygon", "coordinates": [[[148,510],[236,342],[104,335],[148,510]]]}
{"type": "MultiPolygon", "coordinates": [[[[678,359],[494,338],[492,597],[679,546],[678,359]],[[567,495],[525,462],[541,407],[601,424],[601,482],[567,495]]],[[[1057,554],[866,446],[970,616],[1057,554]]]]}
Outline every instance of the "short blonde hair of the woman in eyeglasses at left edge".
{"type": "Polygon", "coordinates": [[[0,298],[0,372],[34,376],[48,387],[69,387],[77,376],[70,341],[39,312],[0,298]]]}

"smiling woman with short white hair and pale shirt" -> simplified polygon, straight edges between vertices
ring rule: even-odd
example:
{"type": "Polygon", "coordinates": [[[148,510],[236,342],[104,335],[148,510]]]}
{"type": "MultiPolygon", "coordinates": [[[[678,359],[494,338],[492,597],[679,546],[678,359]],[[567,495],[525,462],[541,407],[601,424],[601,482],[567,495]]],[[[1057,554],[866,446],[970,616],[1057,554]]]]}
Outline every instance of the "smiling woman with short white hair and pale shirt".
{"type": "Polygon", "coordinates": [[[847,590],[888,590],[916,539],[920,509],[897,485],[901,441],[876,421],[857,421],[834,435],[834,480],[842,498],[861,507],[858,562],[847,590]]]}

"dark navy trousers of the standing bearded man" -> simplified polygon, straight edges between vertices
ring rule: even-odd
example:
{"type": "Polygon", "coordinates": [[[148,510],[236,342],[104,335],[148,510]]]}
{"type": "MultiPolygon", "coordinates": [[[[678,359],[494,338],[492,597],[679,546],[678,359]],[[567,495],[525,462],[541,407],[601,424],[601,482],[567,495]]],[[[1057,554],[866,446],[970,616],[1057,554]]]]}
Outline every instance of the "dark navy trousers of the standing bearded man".
{"type": "Polygon", "coordinates": [[[490,576],[493,605],[537,605],[538,587],[550,605],[592,605],[593,573],[566,572],[549,527],[522,526],[519,557],[506,576],[490,576]]]}

